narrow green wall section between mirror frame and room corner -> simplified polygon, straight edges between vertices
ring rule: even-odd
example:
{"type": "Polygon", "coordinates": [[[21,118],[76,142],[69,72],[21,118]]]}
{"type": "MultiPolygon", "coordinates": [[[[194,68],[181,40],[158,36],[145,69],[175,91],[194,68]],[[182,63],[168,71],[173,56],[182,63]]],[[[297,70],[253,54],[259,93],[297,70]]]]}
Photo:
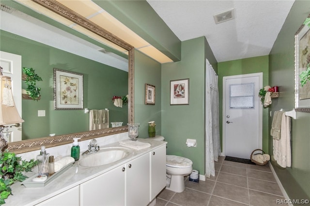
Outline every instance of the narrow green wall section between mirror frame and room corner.
{"type": "Polygon", "coordinates": [[[139,138],[148,137],[148,122],[155,121],[161,135],[161,64],[135,50],[135,123],[140,123],[139,138]],[[155,86],[155,105],[145,104],[145,84],[155,86]]]}

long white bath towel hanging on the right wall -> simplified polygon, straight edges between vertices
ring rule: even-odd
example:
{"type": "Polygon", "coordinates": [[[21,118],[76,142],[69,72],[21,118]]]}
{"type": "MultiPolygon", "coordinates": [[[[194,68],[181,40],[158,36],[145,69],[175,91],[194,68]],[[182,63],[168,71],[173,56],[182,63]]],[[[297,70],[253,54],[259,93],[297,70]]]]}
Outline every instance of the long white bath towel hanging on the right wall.
{"type": "Polygon", "coordinates": [[[273,138],[273,156],[281,167],[290,167],[291,160],[291,118],[282,114],[281,138],[273,138]]]}

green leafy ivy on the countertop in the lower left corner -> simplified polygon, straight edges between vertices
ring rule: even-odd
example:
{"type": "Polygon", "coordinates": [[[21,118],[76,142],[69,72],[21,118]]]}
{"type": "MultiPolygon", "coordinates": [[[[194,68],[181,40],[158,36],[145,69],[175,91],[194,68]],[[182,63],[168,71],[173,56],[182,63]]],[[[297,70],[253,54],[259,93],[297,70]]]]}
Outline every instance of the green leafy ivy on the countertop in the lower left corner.
{"type": "Polygon", "coordinates": [[[27,176],[22,172],[30,172],[31,169],[38,164],[37,161],[21,160],[15,153],[8,150],[0,153],[0,205],[5,204],[5,199],[12,194],[11,185],[17,181],[24,181],[27,176]]]}

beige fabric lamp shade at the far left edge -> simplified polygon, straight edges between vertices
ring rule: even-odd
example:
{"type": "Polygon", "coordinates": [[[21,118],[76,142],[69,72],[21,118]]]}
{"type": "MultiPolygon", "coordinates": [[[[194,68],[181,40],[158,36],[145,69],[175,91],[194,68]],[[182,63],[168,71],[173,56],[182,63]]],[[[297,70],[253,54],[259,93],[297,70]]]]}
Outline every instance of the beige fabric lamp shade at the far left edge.
{"type": "Polygon", "coordinates": [[[16,109],[11,89],[11,77],[0,75],[0,125],[24,122],[16,109]]]}

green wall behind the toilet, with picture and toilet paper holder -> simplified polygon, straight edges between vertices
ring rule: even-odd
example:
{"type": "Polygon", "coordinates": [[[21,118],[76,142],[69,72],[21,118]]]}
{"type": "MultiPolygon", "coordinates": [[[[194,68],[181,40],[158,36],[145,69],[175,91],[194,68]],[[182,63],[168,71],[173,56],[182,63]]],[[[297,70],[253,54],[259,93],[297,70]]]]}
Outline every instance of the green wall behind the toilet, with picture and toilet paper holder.
{"type": "Polygon", "coordinates": [[[205,38],[182,42],[182,60],[162,64],[162,135],[167,154],[193,161],[204,175],[204,87],[205,38]],[[189,105],[170,105],[170,81],[189,78],[189,105]],[[186,139],[196,139],[197,147],[187,147],[186,139]]]}

